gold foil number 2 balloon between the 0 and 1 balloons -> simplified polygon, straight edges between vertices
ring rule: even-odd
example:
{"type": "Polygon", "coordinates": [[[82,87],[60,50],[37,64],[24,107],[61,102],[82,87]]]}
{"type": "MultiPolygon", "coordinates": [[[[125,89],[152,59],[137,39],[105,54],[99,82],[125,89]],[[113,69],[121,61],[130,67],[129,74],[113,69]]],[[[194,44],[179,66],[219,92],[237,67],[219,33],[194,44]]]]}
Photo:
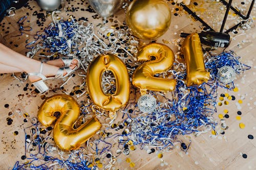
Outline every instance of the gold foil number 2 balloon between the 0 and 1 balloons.
{"type": "Polygon", "coordinates": [[[176,80],[154,77],[155,74],[170,69],[174,63],[174,53],[166,45],[151,43],[145,45],[137,55],[138,61],[148,61],[136,68],[133,74],[133,85],[140,88],[142,94],[146,90],[172,91],[175,88],[176,80]],[[151,60],[154,56],[156,60],[151,60]]]}

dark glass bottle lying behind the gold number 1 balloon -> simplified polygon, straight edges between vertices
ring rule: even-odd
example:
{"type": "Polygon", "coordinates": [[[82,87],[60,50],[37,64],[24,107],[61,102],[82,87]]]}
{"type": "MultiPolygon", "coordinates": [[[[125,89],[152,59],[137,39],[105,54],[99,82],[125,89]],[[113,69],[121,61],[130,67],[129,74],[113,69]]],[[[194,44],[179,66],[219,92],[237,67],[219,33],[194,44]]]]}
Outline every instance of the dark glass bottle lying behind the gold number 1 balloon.
{"type": "MultiPolygon", "coordinates": [[[[189,34],[181,33],[181,37],[187,37],[189,34]]],[[[214,47],[227,47],[230,42],[230,36],[227,33],[219,33],[214,31],[206,31],[198,33],[202,44],[214,47]]]]}

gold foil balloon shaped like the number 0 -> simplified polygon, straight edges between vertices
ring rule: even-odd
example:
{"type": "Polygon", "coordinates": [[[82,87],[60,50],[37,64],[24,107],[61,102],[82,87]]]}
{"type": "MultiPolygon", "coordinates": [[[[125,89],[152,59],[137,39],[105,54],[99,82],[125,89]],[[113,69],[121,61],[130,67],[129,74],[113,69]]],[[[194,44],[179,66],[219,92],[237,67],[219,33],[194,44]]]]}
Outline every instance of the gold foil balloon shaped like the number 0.
{"type": "Polygon", "coordinates": [[[131,85],[126,66],[113,54],[96,57],[88,68],[87,87],[93,103],[110,111],[110,118],[115,118],[115,111],[126,105],[130,97],[131,85]],[[105,94],[102,90],[101,77],[107,70],[112,71],[116,79],[114,94],[105,94]]]}

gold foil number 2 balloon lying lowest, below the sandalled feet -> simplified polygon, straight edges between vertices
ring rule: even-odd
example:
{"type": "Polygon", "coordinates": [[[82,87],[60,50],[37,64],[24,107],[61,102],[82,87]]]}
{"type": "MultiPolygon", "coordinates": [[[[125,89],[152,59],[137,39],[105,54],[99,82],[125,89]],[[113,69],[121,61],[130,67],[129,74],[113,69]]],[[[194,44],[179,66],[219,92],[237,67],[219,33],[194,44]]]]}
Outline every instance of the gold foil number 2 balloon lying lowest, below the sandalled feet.
{"type": "Polygon", "coordinates": [[[44,126],[55,122],[53,138],[56,145],[63,151],[71,151],[91,138],[100,128],[101,124],[95,117],[74,129],[74,124],[80,115],[80,107],[69,95],[56,94],[46,99],[38,110],[38,120],[44,126]],[[55,112],[60,113],[57,119],[55,112]]]}

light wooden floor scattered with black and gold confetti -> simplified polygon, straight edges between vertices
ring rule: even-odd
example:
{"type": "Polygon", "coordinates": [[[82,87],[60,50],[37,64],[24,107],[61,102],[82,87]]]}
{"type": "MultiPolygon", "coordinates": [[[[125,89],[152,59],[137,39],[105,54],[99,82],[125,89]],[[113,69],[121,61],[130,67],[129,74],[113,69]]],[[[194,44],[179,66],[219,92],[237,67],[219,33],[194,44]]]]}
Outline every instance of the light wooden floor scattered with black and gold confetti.
{"type": "MultiPolygon", "coordinates": [[[[74,10],[74,12],[69,11],[62,13],[61,15],[64,19],[68,19],[69,15],[74,15],[76,18],[88,17],[89,22],[100,23],[102,21],[101,18],[93,19],[91,17],[95,15],[95,13],[81,10],[88,8],[88,3],[86,2],[82,5],[78,4],[81,3],[81,1],[78,0],[66,2],[67,9],[77,7],[79,7],[79,9],[77,9],[77,11],[74,10]]],[[[198,8],[197,12],[206,13],[207,10],[216,10],[207,8],[205,11],[202,6],[194,7],[193,2],[191,3],[191,7],[196,10],[198,8]]],[[[207,2],[214,3],[213,1],[207,2]]],[[[248,3],[250,1],[245,2],[248,3]]],[[[235,3],[241,3],[241,1],[235,1],[235,3]]],[[[205,4],[207,5],[207,3],[205,4]]],[[[169,7],[173,12],[171,26],[165,35],[158,38],[157,42],[172,42],[172,40],[179,38],[181,31],[188,33],[200,31],[200,23],[189,17],[187,13],[181,12],[181,7],[177,7],[171,3],[169,3],[169,7]],[[175,16],[174,13],[178,13],[179,16],[175,16]]],[[[36,2],[29,1],[29,6],[16,10],[14,16],[5,17],[1,22],[0,28],[2,31],[0,31],[0,34],[5,39],[6,45],[20,54],[25,55],[28,51],[25,45],[27,42],[33,41],[32,35],[39,31],[40,28],[45,28],[52,22],[51,16],[47,16],[44,25],[39,27],[36,23],[38,19],[37,15],[33,15],[35,11],[39,12],[36,2]],[[20,34],[17,21],[23,16],[27,16],[29,20],[29,22],[25,21],[24,24],[32,27],[33,30],[28,32],[28,34],[16,36],[20,34]]],[[[45,11],[42,13],[46,14],[45,11]]],[[[255,14],[256,10],[254,8],[251,14],[253,20],[255,19],[255,14]]],[[[116,16],[118,16],[118,23],[122,23],[124,12],[120,10],[116,16]]],[[[229,17],[233,16],[234,15],[230,13],[229,17]]],[[[210,23],[217,23],[216,20],[219,19],[219,17],[218,15],[218,17],[209,17],[207,19],[210,23]]],[[[221,20],[218,22],[220,21],[221,20]]],[[[228,26],[232,25],[233,22],[233,20],[228,20],[228,26]]],[[[215,27],[217,27],[217,25],[215,27]]],[[[121,162],[115,164],[114,167],[116,169],[256,169],[256,62],[254,56],[256,53],[254,46],[256,45],[256,29],[254,27],[244,33],[239,32],[239,34],[230,33],[230,36],[232,37],[232,41],[227,50],[236,52],[238,56],[241,56],[242,62],[252,66],[252,68],[234,82],[239,91],[218,90],[218,98],[222,93],[234,95],[236,98],[234,101],[230,100],[228,105],[218,106],[217,113],[214,115],[215,119],[220,123],[218,115],[224,115],[224,110],[228,110],[229,118],[225,119],[229,128],[225,131],[225,134],[215,136],[212,135],[211,132],[208,132],[198,137],[193,135],[179,136],[185,143],[189,143],[189,140],[191,140],[187,154],[181,151],[180,147],[177,147],[172,152],[163,153],[161,159],[158,158],[155,153],[147,154],[145,150],[140,150],[139,147],[137,147],[136,150],[132,151],[129,155],[119,157],[121,158],[121,162]],[[238,111],[242,112],[241,120],[237,119],[238,111]],[[245,124],[244,129],[239,127],[240,123],[245,124]],[[249,139],[248,135],[253,135],[254,139],[249,139]],[[246,154],[247,158],[243,158],[243,154],[246,154]],[[126,161],[126,158],[130,158],[131,161],[135,163],[133,168],[130,167],[130,163],[126,161]]],[[[167,43],[167,45],[175,52],[178,51],[175,44],[167,43]]],[[[81,82],[81,78],[76,76],[65,86],[65,89],[71,91],[73,86],[77,85],[78,82],[81,82]]],[[[56,93],[61,93],[61,91],[50,91],[44,95],[38,94],[34,91],[34,88],[31,87],[29,81],[21,83],[12,77],[11,74],[3,74],[0,76],[0,111],[2,115],[2,119],[0,120],[0,169],[13,167],[16,161],[26,161],[21,159],[25,154],[24,128],[28,127],[30,124],[29,122],[24,122],[25,117],[20,113],[28,113],[30,117],[36,116],[38,107],[42,101],[44,101],[45,95],[51,96],[56,93]],[[27,90],[25,87],[27,87],[27,90]],[[7,124],[8,117],[13,120],[11,125],[7,124]],[[18,132],[17,135],[14,135],[15,131],[18,132]]],[[[79,100],[81,101],[82,99],[83,98],[79,100]]],[[[217,102],[219,102],[219,99],[217,99],[217,102]]]]}

